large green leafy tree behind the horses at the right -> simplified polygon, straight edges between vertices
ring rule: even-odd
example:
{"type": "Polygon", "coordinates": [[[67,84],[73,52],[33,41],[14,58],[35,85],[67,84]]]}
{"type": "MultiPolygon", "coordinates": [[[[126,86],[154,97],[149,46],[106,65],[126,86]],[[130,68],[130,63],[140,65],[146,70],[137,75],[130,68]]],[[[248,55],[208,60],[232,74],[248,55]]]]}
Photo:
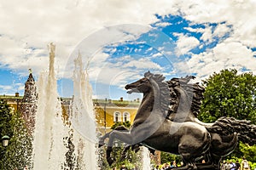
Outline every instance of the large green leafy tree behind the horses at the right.
{"type": "MultiPolygon", "coordinates": [[[[238,74],[235,69],[214,73],[203,81],[206,87],[198,116],[203,122],[215,122],[221,116],[256,122],[256,77],[253,73],[238,74]]],[[[252,147],[254,148],[255,145],[252,147]]],[[[241,157],[252,153],[247,145],[238,144],[231,156],[241,157]],[[248,149],[249,150],[249,149],[248,149]]],[[[255,156],[255,152],[253,153],[255,156]]],[[[249,157],[253,157],[252,154],[249,157]]]]}

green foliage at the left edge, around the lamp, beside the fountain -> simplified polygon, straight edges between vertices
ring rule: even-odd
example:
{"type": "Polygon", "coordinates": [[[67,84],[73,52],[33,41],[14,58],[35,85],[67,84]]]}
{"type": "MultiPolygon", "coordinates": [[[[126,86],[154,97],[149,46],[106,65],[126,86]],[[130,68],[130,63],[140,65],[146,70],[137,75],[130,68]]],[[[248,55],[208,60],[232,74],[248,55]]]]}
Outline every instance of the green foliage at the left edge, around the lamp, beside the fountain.
{"type": "Polygon", "coordinates": [[[20,113],[11,113],[9,105],[0,101],[0,120],[1,120],[1,137],[9,135],[9,145],[1,150],[1,169],[18,169],[25,165],[30,166],[32,159],[32,137],[26,129],[24,120],[20,113]]]}

